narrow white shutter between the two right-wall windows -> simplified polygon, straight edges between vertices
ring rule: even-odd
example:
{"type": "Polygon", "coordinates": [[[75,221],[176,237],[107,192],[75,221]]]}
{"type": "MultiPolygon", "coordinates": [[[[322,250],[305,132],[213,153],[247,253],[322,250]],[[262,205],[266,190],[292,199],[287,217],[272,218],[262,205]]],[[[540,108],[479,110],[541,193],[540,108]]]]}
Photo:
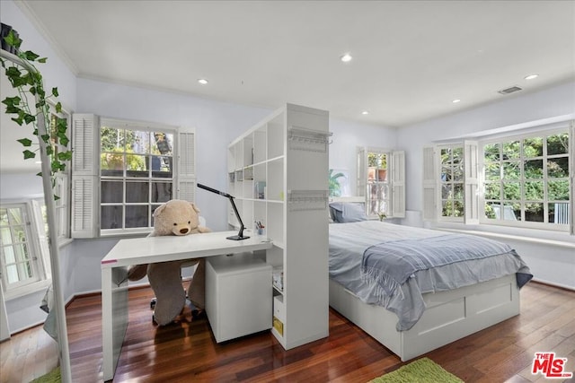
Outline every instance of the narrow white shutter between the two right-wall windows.
{"type": "Polygon", "coordinates": [[[479,163],[477,141],[464,141],[464,222],[479,223],[479,163]]]}

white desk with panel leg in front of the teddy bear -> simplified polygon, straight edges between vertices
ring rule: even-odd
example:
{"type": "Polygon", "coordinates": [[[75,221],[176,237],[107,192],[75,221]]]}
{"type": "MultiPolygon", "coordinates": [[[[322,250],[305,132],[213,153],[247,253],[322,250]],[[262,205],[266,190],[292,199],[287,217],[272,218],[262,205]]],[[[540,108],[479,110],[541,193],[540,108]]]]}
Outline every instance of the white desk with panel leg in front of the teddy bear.
{"type": "MultiPolygon", "coordinates": [[[[111,380],[128,327],[128,266],[174,261],[244,251],[267,250],[265,237],[226,239],[235,231],[218,231],[186,236],[120,239],[102,259],[102,370],[111,380]]],[[[271,281],[270,281],[271,283],[271,281]]]]}

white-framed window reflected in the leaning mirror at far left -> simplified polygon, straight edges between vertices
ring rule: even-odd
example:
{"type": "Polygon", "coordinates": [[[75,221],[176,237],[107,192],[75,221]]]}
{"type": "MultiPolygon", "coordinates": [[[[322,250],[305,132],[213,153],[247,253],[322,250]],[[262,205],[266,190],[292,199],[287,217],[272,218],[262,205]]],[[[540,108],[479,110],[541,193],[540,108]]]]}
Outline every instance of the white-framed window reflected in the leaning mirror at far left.
{"type": "MultiPolygon", "coordinates": [[[[36,222],[31,204],[3,204],[0,206],[0,265],[2,288],[7,296],[17,295],[34,283],[45,280],[45,270],[39,236],[43,230],[36,222]]],[[[35,205],[40,213],[40,205],[35,205]]],[[[40,214],[39,214],[40,215],[40,214]]]]}

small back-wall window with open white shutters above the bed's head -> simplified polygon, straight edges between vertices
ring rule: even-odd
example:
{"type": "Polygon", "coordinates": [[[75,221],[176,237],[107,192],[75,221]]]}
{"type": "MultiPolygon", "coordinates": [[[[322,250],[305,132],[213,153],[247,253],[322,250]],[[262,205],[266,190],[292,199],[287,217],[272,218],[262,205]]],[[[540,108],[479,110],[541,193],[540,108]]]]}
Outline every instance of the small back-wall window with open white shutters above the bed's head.
{"type": "Polygon", "coordinates": [[[358,149],[358,196],[366,196],[366,213],[405,216],[404,153],[358,149]]]}

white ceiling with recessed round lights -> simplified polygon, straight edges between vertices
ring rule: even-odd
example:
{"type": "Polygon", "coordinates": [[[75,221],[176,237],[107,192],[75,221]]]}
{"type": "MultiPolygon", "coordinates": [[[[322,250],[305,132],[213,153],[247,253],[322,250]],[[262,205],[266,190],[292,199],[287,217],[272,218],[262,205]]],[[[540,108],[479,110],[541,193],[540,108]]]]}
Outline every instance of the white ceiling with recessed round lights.
{"type": "Polygon", "coordinates": [[[381,126],[575,79],[573,1],[17,4],[79,77],[381,126]],[[515,85],[523,91],[498,93],[515,85]]]}

